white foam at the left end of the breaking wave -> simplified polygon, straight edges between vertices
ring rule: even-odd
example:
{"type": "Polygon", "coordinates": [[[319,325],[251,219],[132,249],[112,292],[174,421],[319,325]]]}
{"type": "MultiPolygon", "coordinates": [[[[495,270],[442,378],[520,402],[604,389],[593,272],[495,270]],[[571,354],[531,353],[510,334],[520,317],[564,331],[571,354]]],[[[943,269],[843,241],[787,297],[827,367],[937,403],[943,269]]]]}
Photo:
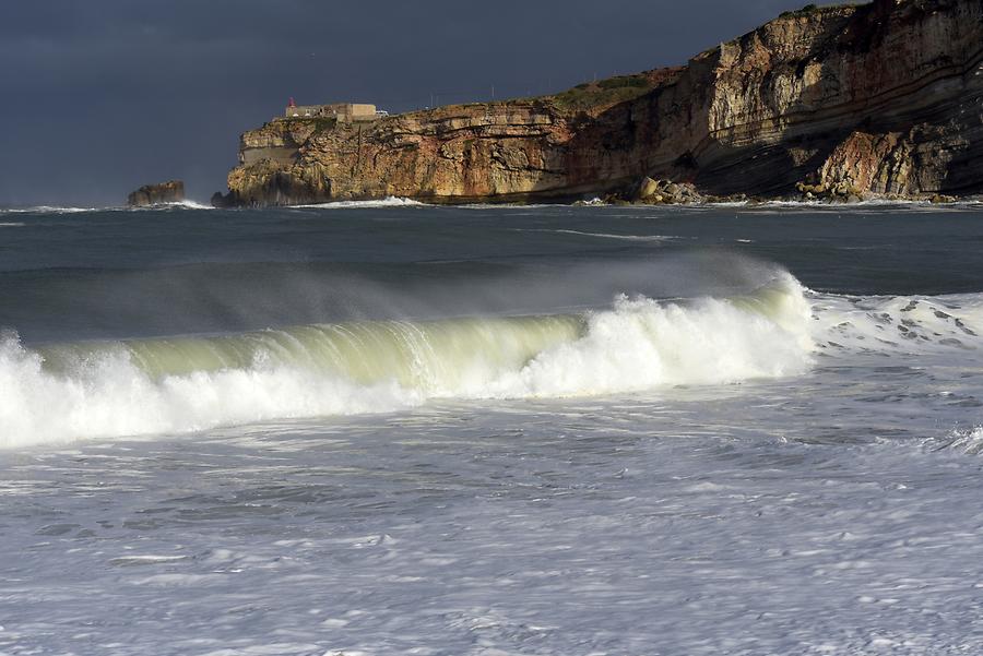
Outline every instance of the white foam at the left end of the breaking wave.
{"type": "Polygon", "coordinates": [[[14,339],[0,343],[0,444],[188,432],[274,418],[357,414],[416,401],[393,383],[355,385],[300,369],[256,366],[155,380],[123,351],[54,373],[14,339]]]}

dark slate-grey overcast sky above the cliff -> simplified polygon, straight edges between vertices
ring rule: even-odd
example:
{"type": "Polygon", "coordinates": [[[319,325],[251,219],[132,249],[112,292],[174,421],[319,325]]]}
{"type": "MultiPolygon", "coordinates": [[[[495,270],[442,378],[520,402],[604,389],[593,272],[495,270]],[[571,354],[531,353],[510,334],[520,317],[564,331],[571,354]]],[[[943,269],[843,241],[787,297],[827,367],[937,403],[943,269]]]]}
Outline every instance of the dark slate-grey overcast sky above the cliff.
{"type": "Polygon", "coordinates": [[[684,63],[804,0],[8,0],[0,205],[225,189],[239,134],[300,104],[390,111],[684,63]]]}

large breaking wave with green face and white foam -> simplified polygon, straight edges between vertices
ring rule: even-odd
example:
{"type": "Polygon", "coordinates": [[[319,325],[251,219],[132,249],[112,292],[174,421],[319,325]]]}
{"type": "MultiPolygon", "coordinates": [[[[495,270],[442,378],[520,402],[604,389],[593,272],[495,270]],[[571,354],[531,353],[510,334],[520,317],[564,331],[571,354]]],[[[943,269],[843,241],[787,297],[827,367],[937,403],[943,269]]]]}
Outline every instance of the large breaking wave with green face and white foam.
{"type": "Polygon", "coordinates": [[[620,296],[575,314],[364,321],[28,348],[0,339],[0,444],[187,432],[394,410],[428,398],[562,397],[794,375],[810,307],[779,274],[753,294],[620,296]]]}

